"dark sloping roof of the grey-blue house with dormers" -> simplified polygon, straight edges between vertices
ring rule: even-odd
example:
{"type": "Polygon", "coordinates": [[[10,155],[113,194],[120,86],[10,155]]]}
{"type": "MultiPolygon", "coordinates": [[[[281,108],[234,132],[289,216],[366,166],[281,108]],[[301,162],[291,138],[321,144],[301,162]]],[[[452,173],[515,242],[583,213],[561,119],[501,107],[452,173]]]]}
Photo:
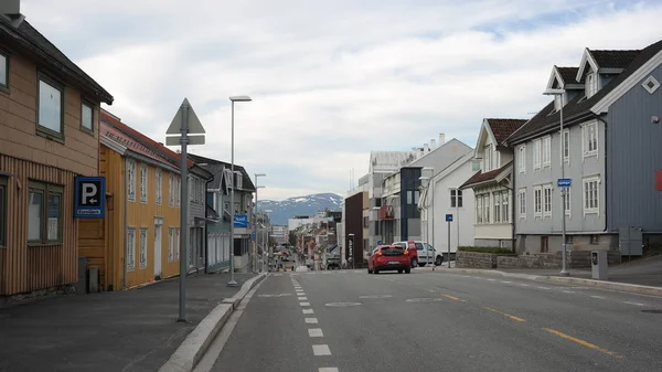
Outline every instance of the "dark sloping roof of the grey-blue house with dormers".
{"type": "MultiPolygon", "coordinates": [[[[574,125],[595,117],[591,107],[598,104],[605,96],[617,89],[621,83],[634,74],[640,67],[644,66],[649,60],[653,59],[662,51],[662,41],[651,44],[637,54],[634,60],[618,75],[615,76],[607,85],[599,89],[590,98],[578,94],[565,106],[563,106],[564,124],[574,125]]],[[[630,51],[632,54],[634,51],[630,51]]],[[[628,55],[626,53],[624,55],[628,55]]],[[[631,55],[631,54],[630,54],[631,55]]],[[[622,57],[622,56],[621,56],[622,57]]],[[[581,68],[581,67],[580,67],[581,68]]],[[[508,145],[516,145],[530,138],[545,135],[551,130],[557,130],[560,114],[554,110],[554,102],[549,102],[540,113],[531,118],[526,125],[508,138],[508,145]]]]}

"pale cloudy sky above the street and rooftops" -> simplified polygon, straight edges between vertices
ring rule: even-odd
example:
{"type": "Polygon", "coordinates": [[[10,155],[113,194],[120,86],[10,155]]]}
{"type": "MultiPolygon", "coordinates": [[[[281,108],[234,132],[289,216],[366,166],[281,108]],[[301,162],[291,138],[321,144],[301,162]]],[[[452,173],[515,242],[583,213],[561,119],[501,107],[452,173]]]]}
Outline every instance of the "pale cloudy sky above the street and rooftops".
{"type": "MultiPolygon", "coordinates": [[[[266,173],[260,199],[344,194],[370,151],[445,134],[473,147],[484,117],[531,118],[552,67],[586,47],[662,38],[662,0],[22,0],[26,20],[164,142],[186,97],[196,155],[266,173]]],[[[173,150],[177,149],[173,148],[173,150]]]]}

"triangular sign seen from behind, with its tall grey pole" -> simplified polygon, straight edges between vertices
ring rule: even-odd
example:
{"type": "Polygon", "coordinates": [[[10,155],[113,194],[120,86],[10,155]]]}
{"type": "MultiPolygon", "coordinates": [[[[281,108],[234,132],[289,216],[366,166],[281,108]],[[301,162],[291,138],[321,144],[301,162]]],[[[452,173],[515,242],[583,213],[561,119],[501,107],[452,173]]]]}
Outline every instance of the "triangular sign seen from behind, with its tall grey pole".
{"type": "MultiPolygon", "coordinates": [[[[197,119],[193,107],[189,104],[189,99],[184,98],[180,108],[174,114],[170,127],[166,131],[166,145],[175,146],[181,145],[181,166],[180,166],[180,182],[181,187],[181,208],[180,208],[180,299],[179,299],[179,317],[177,321],[185,322],[185,310],[186,310],[186,246],[188,238],[186,233],[189,230],[188,215],[189,215],[189,157],[186,155],[188,145],[204,145],[204,128],[197,119]],[[178,135],[179,136],[172,136],[178,135]],[[190,136],[195,135],[195,136],[190,136]]],[[[193,247],[191,247],[193,248],[193,247]]]]}

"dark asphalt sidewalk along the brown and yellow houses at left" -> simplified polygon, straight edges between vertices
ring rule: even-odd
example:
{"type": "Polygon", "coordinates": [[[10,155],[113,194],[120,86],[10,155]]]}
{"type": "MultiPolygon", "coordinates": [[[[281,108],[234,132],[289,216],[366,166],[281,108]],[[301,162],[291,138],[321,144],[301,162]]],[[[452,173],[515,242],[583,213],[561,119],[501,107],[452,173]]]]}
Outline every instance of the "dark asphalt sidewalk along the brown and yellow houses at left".
{"type": "Polygon", "coordinates": [[[0,309],[0,371],[158,371],[193,328],[254,274],[186,278],[186,323],[178,323],[179,279],[140,289],[64,296],[0,309]]]}

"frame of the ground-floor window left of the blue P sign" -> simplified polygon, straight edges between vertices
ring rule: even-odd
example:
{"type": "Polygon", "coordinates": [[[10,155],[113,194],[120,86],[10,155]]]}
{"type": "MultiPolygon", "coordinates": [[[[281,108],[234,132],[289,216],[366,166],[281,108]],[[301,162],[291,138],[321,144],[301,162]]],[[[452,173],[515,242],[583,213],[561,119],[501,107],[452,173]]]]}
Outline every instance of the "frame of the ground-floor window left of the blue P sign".
{"type": "MultiPolygon", "coordinates": [[[[29,246],[62,245],[64,241],[64,185],[44,182],[40,180],[28,181],[28,202],[30,202],[30,192],[40,191],[43,195],[43,210],[41,211],[41,225],[39,240],[28,238],[29,246]],[[57,236],[54,240],[49,238],[49,198],[51,194],[60,195],[60,209],[57,211],[57,236]]],[[[28,208],[28,205],[26,205],[28,208]]],[[[30,210],[28,209],[26,222],[30,224],[30,210]]]]}

